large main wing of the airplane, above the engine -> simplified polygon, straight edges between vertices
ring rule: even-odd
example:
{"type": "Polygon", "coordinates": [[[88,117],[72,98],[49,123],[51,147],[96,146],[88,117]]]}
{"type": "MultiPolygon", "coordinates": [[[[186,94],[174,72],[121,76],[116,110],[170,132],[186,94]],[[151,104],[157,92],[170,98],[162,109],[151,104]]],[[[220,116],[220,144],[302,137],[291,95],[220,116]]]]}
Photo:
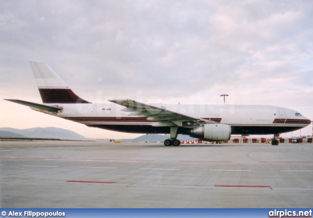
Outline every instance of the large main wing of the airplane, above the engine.
{"type": "Polygon", "coordinates": [[[131,112],[130,116],[147,117],[147,120],[158,121],[153,126],[179,126],[179,127],[195,127],[203,123],[215,123],[182,113],[178,113],[167,109],[164,106],[149,105],[136,102],[131,99],[109,100],[112,103],[126,107],[122,111],[131,112]]]}

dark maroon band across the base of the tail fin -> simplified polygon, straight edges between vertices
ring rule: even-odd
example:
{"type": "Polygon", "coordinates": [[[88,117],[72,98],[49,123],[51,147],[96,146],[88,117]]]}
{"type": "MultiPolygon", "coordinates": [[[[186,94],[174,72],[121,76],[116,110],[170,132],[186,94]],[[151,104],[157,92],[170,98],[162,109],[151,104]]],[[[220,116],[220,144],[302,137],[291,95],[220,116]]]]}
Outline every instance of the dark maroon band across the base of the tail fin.
{"type": "Polygon", "coordinates": [[[39,88],[39,93],[43,103],[90,104],[90,102],[78,97],[69,88],[39,88]]]}

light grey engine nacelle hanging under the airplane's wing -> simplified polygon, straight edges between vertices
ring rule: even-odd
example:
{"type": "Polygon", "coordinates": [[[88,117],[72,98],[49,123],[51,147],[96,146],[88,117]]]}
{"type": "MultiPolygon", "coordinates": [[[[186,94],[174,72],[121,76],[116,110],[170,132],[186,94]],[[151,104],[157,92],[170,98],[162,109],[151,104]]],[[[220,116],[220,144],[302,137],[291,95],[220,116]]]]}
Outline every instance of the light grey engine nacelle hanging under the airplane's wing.
{"type": "Polygon", "coordinates": [[[204,124],[201,127],[191,129],[190,136],[204,141],[228,141],[231,127],[226,124],[204,124]]]}

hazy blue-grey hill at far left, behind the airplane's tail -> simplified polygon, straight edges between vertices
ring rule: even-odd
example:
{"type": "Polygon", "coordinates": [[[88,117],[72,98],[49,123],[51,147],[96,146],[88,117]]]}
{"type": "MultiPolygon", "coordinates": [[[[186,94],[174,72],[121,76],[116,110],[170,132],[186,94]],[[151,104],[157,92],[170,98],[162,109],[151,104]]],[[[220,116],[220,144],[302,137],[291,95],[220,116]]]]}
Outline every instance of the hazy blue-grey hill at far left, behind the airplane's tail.
{"type": "Polygon", "coordinates": [[[74,131],[64,130],[55,127],[31,128],[18,130],[13,128],[0,128],[0,136],[17,138],[56,138],[65,140],[94,140],[86,138],[74,131]]]}

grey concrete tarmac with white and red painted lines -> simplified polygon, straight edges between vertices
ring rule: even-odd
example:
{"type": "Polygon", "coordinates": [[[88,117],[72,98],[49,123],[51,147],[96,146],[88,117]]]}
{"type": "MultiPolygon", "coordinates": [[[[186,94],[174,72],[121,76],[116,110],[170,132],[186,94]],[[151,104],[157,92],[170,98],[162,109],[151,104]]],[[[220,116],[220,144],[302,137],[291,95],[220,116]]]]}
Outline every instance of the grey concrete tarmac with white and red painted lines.
{"type": "Polygon", "coordinates": [[[0,141],[1,208],[312,208],[313,144],[0,141]]]}

